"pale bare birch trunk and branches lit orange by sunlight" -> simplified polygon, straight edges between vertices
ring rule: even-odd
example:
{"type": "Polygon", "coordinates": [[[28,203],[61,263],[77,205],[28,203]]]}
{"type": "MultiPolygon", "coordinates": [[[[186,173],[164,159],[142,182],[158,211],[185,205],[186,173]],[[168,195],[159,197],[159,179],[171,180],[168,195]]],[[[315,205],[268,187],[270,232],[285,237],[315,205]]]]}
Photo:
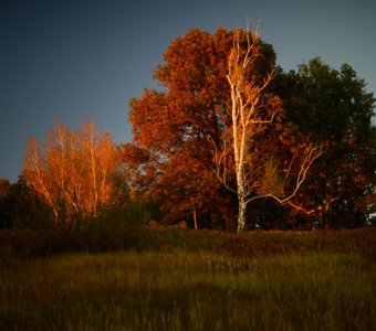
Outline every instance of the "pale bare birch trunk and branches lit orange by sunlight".
{"type": "MultiPolygon", "coordinates": [[[[246,215],[248,203],[257,200],[271,197],[281,204],[290,204],[296,210],[307,212],[300,205],[294,204],[291,199],[296,194],[299,188],[304,182],[306,173],[312,164],[312,162],[322,154],[322,147],[307,147],[302,159],[301,169],[297,174],[295,188],[291,194],[285,196],[274,195],[273,192],[252,195],[257,192],[257,188],[252,188],[249,182],[249,174],[252,173],[252,164],[247,162],[247,156],[251,149],[249,143],[252,141],[252,136],[254,135],[255,126],[271,124],[279,108],[269,109],[271,114],[262,114],[265,108],[268,108],[268,98],[271,96],[263,95],[263,90],[273,79],[275,70],[273,70],[262,82],[258,84],[257,82],[247,81],[247,70],[249,67],[254,68],[254,61],[259,57],[260,50],[258,43],[260,41],[260,35],[255,31],[252,36],[248,38],[248,49],[246,51],[241,50],[240,46],[240,31],[236,32],[233,47],[230,52],[228,58],[228,83],[231,90],[231,119],[232,119],[232,132],[231,140],[233,147],[233,160],[234,160],[234,172],[237,180],[237,188],[230,188],[227,182],[227,142],[223,141],[224,150],[218,157],[218,151],[216,148],[216,162],[217,162],[217,175],[218,179],[224,184],[224,186],[234,192],[238,196],[238,232],[244,229],[246,226],[246,215]],[[252,67],[253,66],[253,67],[252,67]],[[220,173],[220,166],[222,164],[222,173],[220,173]]],[[[253,141],[252,141],[253,142],[253,141]]],[[[289,172],[288,172],[289,174],[289,172]]]]}

